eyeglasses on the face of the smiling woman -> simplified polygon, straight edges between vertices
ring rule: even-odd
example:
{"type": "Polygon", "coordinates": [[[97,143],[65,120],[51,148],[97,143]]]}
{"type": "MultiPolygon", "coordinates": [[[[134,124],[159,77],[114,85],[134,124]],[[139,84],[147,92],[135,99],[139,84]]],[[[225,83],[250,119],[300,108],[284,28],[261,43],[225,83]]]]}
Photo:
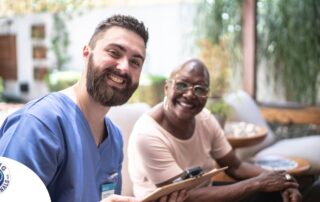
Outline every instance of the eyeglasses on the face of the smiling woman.
{"type": "Polygon", "coordinates": [[[207,97],[209,88],[204,85],[191,85],[189,83],[183,82],[183,81],[175,81],[175,80],[169,80],[170,82],[173,82],[175,90],[184,93],[187,92],[190,88],[192,88],[192,92],[198,96],[198,97],[207,97]]]}

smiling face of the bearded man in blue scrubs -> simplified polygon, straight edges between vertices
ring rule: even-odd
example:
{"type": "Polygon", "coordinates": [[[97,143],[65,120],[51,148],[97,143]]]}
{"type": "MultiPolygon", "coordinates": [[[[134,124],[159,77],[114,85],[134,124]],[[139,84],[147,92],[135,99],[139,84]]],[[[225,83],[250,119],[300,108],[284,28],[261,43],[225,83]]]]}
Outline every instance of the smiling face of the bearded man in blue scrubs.
{"type": "Polygon", "coordinates": [[[103,106],[125,103],[139,85],[145,43],[136,33],[111,27],[83,51],[87,60],[87,91],[103,106]]]}

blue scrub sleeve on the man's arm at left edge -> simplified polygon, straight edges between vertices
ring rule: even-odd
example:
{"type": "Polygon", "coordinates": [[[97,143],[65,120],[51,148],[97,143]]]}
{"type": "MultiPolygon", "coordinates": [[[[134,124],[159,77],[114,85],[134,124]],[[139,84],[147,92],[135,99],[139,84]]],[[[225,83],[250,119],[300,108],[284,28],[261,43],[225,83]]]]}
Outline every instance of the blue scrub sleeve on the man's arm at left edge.
{"type": "Polygon", "coordinates": [[[48,185],[54,178],[62,150],[49,128],[26,114],[19,122],[7,120],[1,134],[0,155],[25,164],[48,185]]]}

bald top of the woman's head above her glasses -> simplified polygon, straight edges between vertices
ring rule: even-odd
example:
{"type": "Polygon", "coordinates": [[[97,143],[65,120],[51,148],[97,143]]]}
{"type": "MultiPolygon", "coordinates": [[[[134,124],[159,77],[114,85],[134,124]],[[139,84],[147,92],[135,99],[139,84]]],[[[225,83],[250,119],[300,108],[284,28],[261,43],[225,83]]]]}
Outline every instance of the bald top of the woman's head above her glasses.
{"type": "Polygon", "coordinates": [[[187,60],[185,63],[174,69],[169,79],[173,79],[177,74],[181,72],[188,72],[189,74],[202,74],[205,78],[205,83],[209,85],[210,77],[209,77],[209,71],[206,67],[206,65],[199,59],[190,59],[187,60]]]}

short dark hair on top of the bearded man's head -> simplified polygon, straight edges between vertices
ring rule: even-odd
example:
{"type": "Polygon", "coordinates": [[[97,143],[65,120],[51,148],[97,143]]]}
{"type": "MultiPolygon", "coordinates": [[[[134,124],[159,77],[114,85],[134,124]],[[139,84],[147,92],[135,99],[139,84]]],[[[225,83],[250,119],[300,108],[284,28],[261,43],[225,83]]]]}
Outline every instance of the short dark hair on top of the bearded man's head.
{"type": "Polygon", "coordinates": [[[107,18],[96,27],[89,41],[89,46],[94,47],[96,45],[96,41],[99,39],[98,36],[100,35],[100,33],[104,33],[107,29],[109,29],[112,26],[122,27],[135,32],[136,34],[141,36],[145,46],[147,47],[149,33],[148,29],[144,26],[143,22],[137,20],[132,16],[119,14],[107,18]]]}

